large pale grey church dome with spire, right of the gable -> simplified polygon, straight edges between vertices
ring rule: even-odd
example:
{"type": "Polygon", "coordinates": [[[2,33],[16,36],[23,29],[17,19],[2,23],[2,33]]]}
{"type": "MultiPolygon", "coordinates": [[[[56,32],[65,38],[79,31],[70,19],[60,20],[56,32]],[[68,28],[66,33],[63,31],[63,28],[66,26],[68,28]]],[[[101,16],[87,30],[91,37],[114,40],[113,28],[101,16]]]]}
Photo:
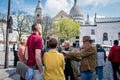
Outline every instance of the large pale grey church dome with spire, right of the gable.
{"type": "Polygon", "coordinates": [[[83,17],[82,11],[80,10],[79,6],[76,4],[77,4],[77,0],[74,0],[74,6],[70,10],[70,15],[72,17],[77,17],[77,16],[83,17]]]}

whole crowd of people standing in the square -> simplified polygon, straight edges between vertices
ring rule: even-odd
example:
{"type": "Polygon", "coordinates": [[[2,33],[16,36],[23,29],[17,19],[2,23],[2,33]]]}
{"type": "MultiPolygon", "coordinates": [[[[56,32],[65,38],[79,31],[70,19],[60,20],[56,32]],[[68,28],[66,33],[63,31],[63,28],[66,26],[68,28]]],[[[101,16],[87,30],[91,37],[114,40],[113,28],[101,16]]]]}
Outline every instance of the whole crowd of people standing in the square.
{"type": "MultiPolygon", "coordinates": [[[[32,34],[21,38],[20,45],[13,46],[14,67],[17,61],[24,61],[29,67],[34,67],[34,75],[21,80],[92,80],[96,72],[98,80],[103,80],[103,68],[106,63],[106,52],[100,44],[92,44],[90,36],[83,36],[83,45],[78,49],[76,43],[65,40],[58,46],[58,41],[51,38],[47,50],[42,44],[42,26],[32,25],[32,34]]],[[[120,75],[120,46],[118,40],[110,49],[108,60],[112,63],[114,80],[120,75]]]]}

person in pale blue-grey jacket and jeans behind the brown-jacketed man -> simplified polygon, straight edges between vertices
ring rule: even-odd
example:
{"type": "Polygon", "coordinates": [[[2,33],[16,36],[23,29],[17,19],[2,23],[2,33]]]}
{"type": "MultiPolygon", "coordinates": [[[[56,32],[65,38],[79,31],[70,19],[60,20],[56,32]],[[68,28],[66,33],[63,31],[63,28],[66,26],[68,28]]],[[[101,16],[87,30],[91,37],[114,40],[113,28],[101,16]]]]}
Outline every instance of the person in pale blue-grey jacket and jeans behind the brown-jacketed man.
{"type": "Polygon", "coordinates": [[[97,48],[97,65],[96,73],[98,75],[98,80],[103,80],[103,66],[106,62],[106,52],[100,44],[96,44],[97,48]]]}

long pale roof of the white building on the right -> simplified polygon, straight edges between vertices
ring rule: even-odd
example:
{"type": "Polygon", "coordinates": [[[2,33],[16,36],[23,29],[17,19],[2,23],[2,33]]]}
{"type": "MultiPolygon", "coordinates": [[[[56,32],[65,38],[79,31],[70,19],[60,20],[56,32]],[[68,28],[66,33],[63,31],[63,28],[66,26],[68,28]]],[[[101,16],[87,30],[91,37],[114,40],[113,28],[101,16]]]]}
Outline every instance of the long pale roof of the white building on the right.
{"type": "Polygon", "coordinates": [[[120,22],[120,17],[96,18],[96,23],[120,22]]]}

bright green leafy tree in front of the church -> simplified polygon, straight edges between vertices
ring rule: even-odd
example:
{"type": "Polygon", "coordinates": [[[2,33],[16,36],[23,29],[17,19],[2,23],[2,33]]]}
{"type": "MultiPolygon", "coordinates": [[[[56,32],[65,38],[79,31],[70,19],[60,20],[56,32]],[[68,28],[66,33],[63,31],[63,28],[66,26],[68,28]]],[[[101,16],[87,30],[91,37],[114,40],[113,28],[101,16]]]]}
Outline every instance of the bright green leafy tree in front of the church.
{"type": "Polygon", "coordinates": [[[68,18],[61,18],[60,21],[53,23],[54,34],[59,39],[68,40],[79,34],[79,23],[68,18]]]}

